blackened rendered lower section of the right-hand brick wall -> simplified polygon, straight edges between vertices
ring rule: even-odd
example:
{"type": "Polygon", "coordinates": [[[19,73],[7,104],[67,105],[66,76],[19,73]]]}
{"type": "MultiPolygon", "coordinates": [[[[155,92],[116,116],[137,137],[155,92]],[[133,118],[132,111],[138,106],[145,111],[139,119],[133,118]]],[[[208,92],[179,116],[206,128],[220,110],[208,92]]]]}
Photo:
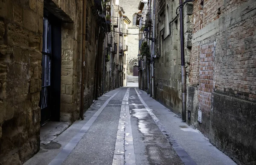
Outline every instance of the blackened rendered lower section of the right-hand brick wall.
{"type": "Polygon", "coordinates": [[[239,164],[256,162],[256,103],[212,93],[210,141],[239,164]]]}

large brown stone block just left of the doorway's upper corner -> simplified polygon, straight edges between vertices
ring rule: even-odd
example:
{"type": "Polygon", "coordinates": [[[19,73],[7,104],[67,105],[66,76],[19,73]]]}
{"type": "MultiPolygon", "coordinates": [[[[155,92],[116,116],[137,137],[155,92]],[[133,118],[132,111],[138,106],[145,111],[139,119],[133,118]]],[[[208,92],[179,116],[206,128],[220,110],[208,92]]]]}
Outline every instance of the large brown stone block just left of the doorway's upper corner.
{"type": "Polygon", "coordinates": [[[23,10],[23,27],[34,32],[38,32],[38,15],[29,9],[23,10]]]}

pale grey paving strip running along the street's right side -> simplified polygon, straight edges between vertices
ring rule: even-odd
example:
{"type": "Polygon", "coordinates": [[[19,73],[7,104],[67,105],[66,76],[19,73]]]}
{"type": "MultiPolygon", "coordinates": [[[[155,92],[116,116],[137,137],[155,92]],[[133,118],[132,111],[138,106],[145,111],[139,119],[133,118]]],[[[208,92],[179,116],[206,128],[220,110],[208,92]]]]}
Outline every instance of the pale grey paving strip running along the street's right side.
{"type": "Polygon", "coordinates": [[[181,161],[184,163],[184,165],[197,165],[196,162],[187,154],[187,152],[183,149],[181,145],[177,143],[177,141],[172,137],[172,135],[164,128],[163,124],[160,122],[160,120],[157,118],[156,115],[154,115],[154,112],[148,107],[148,105],[143,101],[141,98],[139,92],[135,88],[135,91],[137,92],[138,97],[140,98],[141,103],[143,106],[145,106],[145,109],[148,111],[154,122],[157,124],[160,131],[165,135],[166,139],[171,144],[172,148],[175,150],[177,155],[180,157],[181,161]]]}

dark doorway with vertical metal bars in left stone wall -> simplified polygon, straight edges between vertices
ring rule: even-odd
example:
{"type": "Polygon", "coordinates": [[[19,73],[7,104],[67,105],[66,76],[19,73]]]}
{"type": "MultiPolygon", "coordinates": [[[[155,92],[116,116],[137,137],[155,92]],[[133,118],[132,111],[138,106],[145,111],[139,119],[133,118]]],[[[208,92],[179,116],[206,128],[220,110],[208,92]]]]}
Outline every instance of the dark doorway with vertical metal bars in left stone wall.
{"type": "Polygon", "coordinates": [[[42,89],[39,106],[41,125],[60,118],[61,94],[61,22],[44,11],[42,50],[42,89]]]}

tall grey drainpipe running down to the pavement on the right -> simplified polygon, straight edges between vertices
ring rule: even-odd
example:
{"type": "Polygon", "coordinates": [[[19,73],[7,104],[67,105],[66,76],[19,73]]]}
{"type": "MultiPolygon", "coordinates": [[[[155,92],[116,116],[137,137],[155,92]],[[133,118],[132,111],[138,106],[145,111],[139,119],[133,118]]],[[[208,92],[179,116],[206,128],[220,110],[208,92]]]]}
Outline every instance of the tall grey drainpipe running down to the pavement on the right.
{"type": "Polygon", "coordinates": [[[181,92],[182,92],[182,122],[186,122],[186,68],[184,59],[183,31],[183,0],[180,0],[180,55],[181,55],[181,92]]]}

